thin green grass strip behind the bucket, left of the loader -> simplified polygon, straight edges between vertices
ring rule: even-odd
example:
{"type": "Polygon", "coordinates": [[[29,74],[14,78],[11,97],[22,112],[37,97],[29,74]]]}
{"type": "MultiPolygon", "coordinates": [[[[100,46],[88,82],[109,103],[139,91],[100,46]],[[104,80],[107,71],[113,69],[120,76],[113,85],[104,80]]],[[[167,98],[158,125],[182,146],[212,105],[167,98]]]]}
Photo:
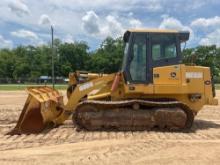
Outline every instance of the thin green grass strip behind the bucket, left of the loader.
{"type": "MultiPolygon", "coordinates": [[[[25,90],[30,86],[44,86],[44,84],[0,84],[0,91],[16,91],[16,90],[25,90]]],[[[47,86],[52,87],[52,84],[47,84],[47,86]]],[[[55,88],[57,90],[66,90],[67,84],[56,84],[55,88]]]]}

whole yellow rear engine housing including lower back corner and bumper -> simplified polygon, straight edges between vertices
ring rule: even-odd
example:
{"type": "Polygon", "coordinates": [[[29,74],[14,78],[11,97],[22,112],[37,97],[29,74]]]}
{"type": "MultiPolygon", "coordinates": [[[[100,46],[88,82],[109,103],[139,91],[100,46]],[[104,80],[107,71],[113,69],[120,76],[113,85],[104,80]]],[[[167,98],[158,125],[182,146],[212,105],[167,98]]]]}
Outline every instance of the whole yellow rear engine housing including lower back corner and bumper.
{"type": "Polygon", "coordinates": [[[217,104],[208,67],[183,64],[157,67],[153,70],[153,81],[155,95],[173,96],[196,111],[205,104],[217,104]]]}

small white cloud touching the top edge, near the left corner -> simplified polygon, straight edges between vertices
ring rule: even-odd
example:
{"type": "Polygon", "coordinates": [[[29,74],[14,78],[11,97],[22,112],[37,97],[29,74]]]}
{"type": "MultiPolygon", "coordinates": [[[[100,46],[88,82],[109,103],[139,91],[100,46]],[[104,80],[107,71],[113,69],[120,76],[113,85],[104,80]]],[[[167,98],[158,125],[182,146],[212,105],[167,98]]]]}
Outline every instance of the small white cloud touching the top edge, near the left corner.
{"type": "Polygon", "coordinates": [[[15,13],[19,17],[30,14],[28,6],[21,0],[10,1],[8,7],[11,12],[15,13]]]}

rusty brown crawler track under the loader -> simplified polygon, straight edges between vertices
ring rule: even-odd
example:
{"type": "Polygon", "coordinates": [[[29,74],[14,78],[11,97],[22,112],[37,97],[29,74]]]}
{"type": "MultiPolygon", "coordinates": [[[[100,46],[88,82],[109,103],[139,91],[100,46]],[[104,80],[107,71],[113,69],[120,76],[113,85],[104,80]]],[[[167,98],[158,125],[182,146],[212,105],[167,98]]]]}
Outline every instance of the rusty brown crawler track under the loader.
{"type": "Polygon", "coordinates": [[[167,130],[190,129],[193,111],[179,101],[95,101],[81,102],[72,118],[79,128],[86,130],[151,130],[155,126],[167,130]],[[138,105],[142,109],[134,110],[138,105]],[[178,117],[178,120],[177,120],[178,117]]]}

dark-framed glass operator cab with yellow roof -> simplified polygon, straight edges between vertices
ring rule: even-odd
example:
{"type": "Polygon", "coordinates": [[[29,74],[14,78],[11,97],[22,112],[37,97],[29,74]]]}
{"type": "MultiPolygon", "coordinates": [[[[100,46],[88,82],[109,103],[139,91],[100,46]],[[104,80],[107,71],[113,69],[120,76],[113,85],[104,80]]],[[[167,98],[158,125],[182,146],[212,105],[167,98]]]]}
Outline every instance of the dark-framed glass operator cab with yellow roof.
{"type": "Polygon", "coordinates": [[[152,83],[153,68],[180,64],[181,43],[189,39],[188,31],[128,30],[122,71],[128,83],[152,83]]]}

